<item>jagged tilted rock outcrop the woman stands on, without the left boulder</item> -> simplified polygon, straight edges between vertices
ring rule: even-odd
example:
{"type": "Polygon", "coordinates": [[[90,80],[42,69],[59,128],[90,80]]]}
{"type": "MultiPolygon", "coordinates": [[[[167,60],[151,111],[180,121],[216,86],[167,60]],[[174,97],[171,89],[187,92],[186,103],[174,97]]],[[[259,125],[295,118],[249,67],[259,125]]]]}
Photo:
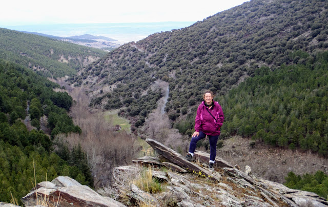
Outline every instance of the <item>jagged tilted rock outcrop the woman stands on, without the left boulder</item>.
{"type": "MultiPolygon", "coordinates": [[[[142,157],[134,162],[157,168],[152,172],[153,178],[168,185],[165,192],[152,195],[158,206],[328,206],[326,200],[314,193],[292,190],[282,184],[254,177],[249,167],[242,172],[217,157],[215,170],[210,171],[207,164],[202,164],[208,162],[208,153],[196,151],[194,161],[190,162],[155,140],[146,141],[160,158],[142,157]],[[171,165],[178,168],[169,167],[171,165]]],[[[126,189],[129,185],[125,182],[127,178],[133,179],[131,175],[138,175],[139,171],[137,167],[116,168],[114,188],[118,192],[119,189],[126,189]]],[[[133,188],[135,191],[137,187],[133,185],[133,188]]],[[[150,196],[147,192],[142,194],[150,196]]],[[[141,195],[140,192],[138,195],[141,195]]],[[[145,202],[147,197],[130,204],[145,202]]]]}

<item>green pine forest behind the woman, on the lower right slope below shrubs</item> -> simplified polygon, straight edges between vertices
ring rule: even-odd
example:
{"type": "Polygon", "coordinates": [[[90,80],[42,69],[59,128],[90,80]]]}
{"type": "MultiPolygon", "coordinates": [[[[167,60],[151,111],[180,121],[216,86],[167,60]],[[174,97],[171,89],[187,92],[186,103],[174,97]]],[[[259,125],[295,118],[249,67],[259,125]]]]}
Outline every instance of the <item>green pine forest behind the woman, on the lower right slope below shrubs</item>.
{"type": "MultiPolygon", "coordinates": [[[[222,137],[238,134],[328,157],[328,52],[302,55],[311,60],[274,71],[261,67],[254,77],[215,98],[226,119],[222,137]]],[[[189,135],[193,126],[194,115],[175,125],[189,135]]]]}

